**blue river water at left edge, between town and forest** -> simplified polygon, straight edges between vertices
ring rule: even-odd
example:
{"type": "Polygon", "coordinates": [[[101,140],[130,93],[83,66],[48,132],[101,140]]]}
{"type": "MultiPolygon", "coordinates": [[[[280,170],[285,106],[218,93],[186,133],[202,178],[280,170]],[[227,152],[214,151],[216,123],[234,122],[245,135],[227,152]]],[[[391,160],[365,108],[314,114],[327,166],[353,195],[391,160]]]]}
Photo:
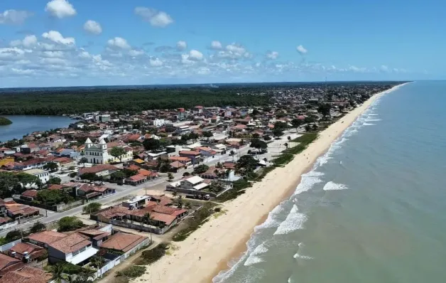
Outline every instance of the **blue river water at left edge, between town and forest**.
{"type": "Polygon", "coordinates": [[[75,122],[69,117],[62,116],[12,115],[2,117],[10,119],[13,123],[0,126],[0,142],[21,139],[24,135],[36,131],[68,127],[69,124],[75,122]]]}

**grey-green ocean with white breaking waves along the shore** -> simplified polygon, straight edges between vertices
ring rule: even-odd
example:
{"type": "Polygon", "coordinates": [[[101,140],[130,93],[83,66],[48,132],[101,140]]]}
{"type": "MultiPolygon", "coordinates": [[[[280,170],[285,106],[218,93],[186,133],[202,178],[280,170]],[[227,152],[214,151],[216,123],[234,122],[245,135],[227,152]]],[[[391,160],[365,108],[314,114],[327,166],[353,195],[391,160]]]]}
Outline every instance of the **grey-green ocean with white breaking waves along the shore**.
{"type": "Polygon", "coordinates": [[[214,283],[446,278],[446,82],[381,96],[214,283]]]}

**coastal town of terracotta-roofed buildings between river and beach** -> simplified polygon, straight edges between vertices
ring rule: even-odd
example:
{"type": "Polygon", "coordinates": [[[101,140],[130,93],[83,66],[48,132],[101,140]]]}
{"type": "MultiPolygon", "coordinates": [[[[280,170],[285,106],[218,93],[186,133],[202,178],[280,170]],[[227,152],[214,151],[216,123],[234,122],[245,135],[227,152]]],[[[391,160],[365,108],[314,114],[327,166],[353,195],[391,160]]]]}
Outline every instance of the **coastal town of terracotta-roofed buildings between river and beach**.
{"type": "Polygon", "coordinates": [[[268,105],[61,113],[70,127],[4,141],[0,283],[138,277],[317,132],[399,83],[236,87],[268,105]]]}

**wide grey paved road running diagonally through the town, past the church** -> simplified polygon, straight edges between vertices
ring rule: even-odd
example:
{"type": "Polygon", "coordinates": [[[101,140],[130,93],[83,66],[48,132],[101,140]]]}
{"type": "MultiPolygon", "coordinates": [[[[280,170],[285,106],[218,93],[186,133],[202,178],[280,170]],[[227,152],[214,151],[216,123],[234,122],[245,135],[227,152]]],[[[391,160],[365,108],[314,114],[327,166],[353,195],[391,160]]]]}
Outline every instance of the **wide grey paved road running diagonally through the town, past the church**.
{"type": "MultiPolygon", "coordinates": [[[[268,144],[268,152],[266,154],[261,154],[261,155],[257,156],[257,158],[259,160],[261,160],[265,157],[268,160],[273,159],[274,155],[277,155],[278,153],[283,151],[283,149],[285,149],[284,144],[288,142],[288,136],[290,136],[291,139],[295,139],[296,137],[299,137],[300,134],[285,132],[285,134],[283,135],[283,137],[281,137],[281,139],[273,140],[273,142],[268,144]]],[[[249,147],[249,145],[246,145],[239,150],[234,150],[236,153],[236,154],[234,154],[234,156],[229,156],[229,153],[222,154],[221,156],[220,155],[214,156],[214,158],[212,158],[212,157],[207,158],[207,159],[205,159],[204,163],[207,164],[208,166],[212,166],[214,164],[217,164],[217,162],[232,161],[232,160],[236,161],[237,159],[239,159],[240,156],[247,154],[249,149],[251,149],[249,147]]],[[[251,149],[251,150],[253,150],[253,149],[251,149]]],[[[185,171],[192,172],[193,169],[191,167],[190,169],[186,169],[186,170],[180,171],[178,173],[174,173],[173,174],[174,180],[182,178],[183,173],[185,173],[185,171]]],[[[94,202],[102,203],[103,205],[107,204],[107,203],[112,203],[112,202],[118,200],[119,198],[124,198],[125,196],[129,196],[132,193],[136,193],[136,191],[139,191],[142,188],[151,188],[151,187],[157,186],[161,183],[165,183],[166,181],[167,181],[167,177],[162,177],[162,178],[158,178],[153,181],[148,181],[147,183],[143,183],[139,186],[129,186],[129,185],[118,186],[115,183],[107,183],[107,186],[109,186],[110,188],[116,189],[116,193],[114,193],[111,196],[107,196],[105,198],[99,198],[99,199],[95,200],[94,202]]],[[[70,210],[60,212],[60,213],[54,213],[53,211],[48,210],[48,217],[40,218],[40,219],[38,219],[38,221],[40,221],[41,223],[50,223],[50,222],[53,222],[53,221],[58,220],[62,217],[65,217],[65,216],[77,215],[79,213],[82,213],[83,207],[84,207],[84,205],[80,205],[75,208],[71,208],[70,210]]],[[[41,210],[41,213],[43,215],[45,215],[44,210],[41,210]]],[[[13,229],[30,228],[33,225],[33,223],[36,221],[37,220],[31,221],[29,223],[23,223],[22,225],[18,225],[13,229]]],[[[0,237],[4,237],[9,231],[11,231],[13,229],[9,229],[9,230],[0,232],[0,237]]]]}

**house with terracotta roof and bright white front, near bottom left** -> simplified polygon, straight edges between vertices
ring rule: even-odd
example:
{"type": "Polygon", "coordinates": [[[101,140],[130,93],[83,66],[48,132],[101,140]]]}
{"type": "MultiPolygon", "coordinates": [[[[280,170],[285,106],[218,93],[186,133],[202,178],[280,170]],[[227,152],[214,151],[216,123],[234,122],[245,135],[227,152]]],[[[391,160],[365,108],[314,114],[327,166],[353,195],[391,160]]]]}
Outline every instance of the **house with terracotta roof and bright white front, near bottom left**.
{"type": "Polygon", "coordinates": [[[96,255],[98,251],[92,246],[88,236],[72,233],[48,245],[48,262],[53,264],[65,261],[77,265],[96,255]]]}

